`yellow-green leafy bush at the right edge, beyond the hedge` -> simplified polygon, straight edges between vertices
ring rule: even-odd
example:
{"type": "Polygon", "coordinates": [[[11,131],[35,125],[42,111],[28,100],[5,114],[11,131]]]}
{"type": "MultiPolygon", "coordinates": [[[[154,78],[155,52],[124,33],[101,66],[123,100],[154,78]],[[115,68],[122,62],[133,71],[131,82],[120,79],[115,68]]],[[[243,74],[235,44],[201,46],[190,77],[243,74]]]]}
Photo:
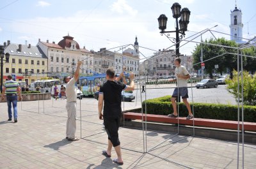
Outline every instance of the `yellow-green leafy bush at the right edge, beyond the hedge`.
{"type": "MultiPolygon", "coordinates": [[[[241,84],[241,73],[238,73],[237,71],[233,71],[234,77],[232,79],[227,79],[227,90],[231,94],[233,94],[238,99],[238,96],[241,101],[241,91],[242,91],[242,84],[241,84]],[[239,92],[237,90],[238,82],[237,78],[239,78],[239,92]]],[[[256,74],[251,75],[248,73],[248,71],[243,71],[243,91],[244,91],[244,105],[256,105],[256,74]]]]}

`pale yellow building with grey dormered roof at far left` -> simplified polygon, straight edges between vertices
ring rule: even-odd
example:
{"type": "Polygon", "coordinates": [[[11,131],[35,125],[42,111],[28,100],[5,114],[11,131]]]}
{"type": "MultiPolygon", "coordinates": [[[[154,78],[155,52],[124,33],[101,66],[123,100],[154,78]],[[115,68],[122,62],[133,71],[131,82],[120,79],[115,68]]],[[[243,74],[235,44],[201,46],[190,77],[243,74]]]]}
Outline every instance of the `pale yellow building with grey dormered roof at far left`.
{"type": "Polygon", "coordinates": [[[35,80],[47,77],[47,56],[40,48],[8,41],[4,43],[4,53],[6,52],[10,54],[10,59],[4,63],[3,80],[6,80],[8,75],[15,75],[17,81],[31,84],[35,80]]]}

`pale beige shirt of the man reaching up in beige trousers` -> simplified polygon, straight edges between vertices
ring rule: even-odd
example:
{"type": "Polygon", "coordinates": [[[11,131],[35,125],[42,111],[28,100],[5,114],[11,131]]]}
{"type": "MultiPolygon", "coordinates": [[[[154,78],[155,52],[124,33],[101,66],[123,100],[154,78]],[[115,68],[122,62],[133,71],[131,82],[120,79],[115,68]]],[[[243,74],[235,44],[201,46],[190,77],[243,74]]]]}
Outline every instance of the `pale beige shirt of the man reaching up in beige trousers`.
{"type": "Polygon", "coordinates": [[[76,102],[77,94],[76,94],[75,84],[76,84],[76,80],[73,77],[66,85],[67,102],[76,102]]]}

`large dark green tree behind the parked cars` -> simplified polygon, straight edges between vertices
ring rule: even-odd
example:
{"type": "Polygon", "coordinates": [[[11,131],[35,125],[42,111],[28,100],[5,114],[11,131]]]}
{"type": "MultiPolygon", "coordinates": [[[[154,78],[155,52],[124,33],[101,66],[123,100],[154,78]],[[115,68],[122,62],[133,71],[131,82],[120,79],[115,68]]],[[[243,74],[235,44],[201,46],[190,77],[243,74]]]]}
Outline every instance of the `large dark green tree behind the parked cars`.
{"type": "MultiPolygon", "coordinates": [[[[228,47],[237,47],[235,41],[225,40],[225,38],[218,38],[217,40],[205,40],[205,43],[212,43],[216,45],[225,45],[228,47]]],[[[201,45],[196,45],[195,50],[193,51],[193,64],[200,62],[201,57],[201,45]]],[[[236,53],[235,49],[232,48],[224,48],[224,47],[217,47],[213,45],[203,45],[203,59],[205,61],[205,71],[209,73],[210,77],[212,78],[212,72],[214,71],[215,64],[218,64],[219,68],[216,70],[218,73],[226,71],[226,68],[229,70],[236,69],[236,55],[233,54],[225,54],[225,53],[236,53]],[[216,57],[218,55],[222,55],[220,57],[216,57]],[[206,61],[207,59],[211,59],[212,57],[216,57],[210,61],[206,61]]],[[[196,70],[200,69],[200,64],[196,64],[194,66],[196,70]]]]}

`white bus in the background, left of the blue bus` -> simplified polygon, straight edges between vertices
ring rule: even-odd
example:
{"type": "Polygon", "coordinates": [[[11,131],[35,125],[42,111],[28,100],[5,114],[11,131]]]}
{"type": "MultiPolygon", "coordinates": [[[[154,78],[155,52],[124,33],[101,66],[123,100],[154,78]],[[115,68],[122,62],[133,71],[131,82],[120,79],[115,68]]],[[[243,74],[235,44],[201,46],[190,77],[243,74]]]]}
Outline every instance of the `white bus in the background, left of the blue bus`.
{"type": "Polygon", "coordinates": [[[36,87],[43,87],[44,92],[51,92],[52,85],[60,85],[60,79],[36,80],[29,85],[29,90],[36,91],[36,87]]]}

